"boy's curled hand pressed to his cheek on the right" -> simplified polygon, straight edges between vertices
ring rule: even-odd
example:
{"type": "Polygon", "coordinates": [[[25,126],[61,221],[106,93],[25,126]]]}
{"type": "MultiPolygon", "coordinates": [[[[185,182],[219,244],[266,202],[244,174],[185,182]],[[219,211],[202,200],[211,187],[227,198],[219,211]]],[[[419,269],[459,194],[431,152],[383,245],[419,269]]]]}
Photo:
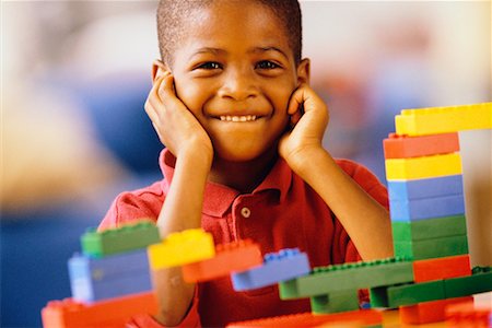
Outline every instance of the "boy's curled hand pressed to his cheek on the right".
{"type": "Polygon", "coordinates": [[[308,163],[313,151],[323,150],[323,136],[329,114],[326,104],[307,84],[294,91],[288,113],[293,129],[280,140],[279,153],[298,173],[308,163]]]}

